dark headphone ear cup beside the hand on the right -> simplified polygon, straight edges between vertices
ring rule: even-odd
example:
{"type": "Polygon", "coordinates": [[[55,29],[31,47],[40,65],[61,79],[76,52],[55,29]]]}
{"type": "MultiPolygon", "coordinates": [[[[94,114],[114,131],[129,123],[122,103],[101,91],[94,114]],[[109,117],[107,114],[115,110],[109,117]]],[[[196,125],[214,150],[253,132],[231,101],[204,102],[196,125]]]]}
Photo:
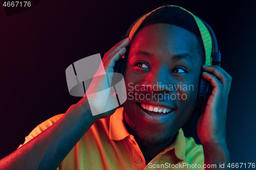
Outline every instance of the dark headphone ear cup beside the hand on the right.
{"type": "Polygon", "coordinates": [[[209,99],[212,86],[209,81],[205,80],[202,76],[199,80],[197,104],[196,107],[204,108],[206,107],[207,101],[209,99]]]}

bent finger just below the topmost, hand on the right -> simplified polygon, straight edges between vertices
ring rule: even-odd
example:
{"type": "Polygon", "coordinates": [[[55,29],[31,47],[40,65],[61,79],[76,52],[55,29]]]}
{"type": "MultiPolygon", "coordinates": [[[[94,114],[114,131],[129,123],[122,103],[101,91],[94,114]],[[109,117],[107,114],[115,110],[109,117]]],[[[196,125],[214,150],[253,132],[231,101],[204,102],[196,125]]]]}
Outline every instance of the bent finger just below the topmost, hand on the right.
{"type": "Polygon", "coordinates": [[[217,77],[215,77],[214,75],[211,75],[207,72],[203,72],[203,78],[207,81],[210,82],[210,84],[212,85],[212,87],[214,87],[214,89],[212,89],[211,95],[213,96],[218,96],[221,93],[223,93],[223,85],[222,83],[217,79],[217,77]]]}

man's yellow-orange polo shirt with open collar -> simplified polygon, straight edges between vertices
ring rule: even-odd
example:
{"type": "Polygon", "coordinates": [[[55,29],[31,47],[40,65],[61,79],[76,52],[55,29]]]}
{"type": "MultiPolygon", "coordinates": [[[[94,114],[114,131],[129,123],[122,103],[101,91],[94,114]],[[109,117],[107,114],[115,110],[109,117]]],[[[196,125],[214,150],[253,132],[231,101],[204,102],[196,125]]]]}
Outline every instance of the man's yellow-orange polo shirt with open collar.
{"type": "MultiPolygon", "coordinates": [[[[53,116],[38,125],[25,138],[24,144],[54,124],[62,115],[53,116]]],[[[186,138],[180,129],[175,142],[146,165],[137,141],[124,125],[123,108],[119,108],[110,117],[98,119],[58,169],[204,169],[203,164],[202,145],[196,144],[191,137],[186,138]],[[198,168],[199,165],[201,168],[198,168]]]]}

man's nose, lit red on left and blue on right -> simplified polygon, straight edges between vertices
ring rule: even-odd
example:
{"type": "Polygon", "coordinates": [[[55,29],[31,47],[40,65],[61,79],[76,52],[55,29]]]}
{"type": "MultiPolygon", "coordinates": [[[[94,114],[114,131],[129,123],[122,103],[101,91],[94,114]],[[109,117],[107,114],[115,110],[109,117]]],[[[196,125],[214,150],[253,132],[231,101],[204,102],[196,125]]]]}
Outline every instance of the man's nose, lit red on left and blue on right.
{"type": "Polygon", "coordinates": [[[145,77],[141,86],[144,86],[145,89],[154,91],[154,92],[171,92],[171,77],[168,69],[159,69],[155,71],[151,71],[150,74],[145,77]]]}

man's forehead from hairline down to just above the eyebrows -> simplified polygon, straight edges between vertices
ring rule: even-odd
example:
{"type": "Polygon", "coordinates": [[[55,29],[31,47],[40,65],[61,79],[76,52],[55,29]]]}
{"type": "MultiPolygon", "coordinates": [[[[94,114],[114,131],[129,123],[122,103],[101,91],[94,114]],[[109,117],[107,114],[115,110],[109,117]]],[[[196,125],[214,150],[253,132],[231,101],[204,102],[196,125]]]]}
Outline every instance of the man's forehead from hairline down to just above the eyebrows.
{"type": "Polygon", "coordinates": [[[175,25],[157,23],[141,29],[133,38],[131,48],[143,50],[148,47],[168,47],[187,50],[190,46],[197,46],[197,43],[198,39],[193,33],[175,25]]]}

